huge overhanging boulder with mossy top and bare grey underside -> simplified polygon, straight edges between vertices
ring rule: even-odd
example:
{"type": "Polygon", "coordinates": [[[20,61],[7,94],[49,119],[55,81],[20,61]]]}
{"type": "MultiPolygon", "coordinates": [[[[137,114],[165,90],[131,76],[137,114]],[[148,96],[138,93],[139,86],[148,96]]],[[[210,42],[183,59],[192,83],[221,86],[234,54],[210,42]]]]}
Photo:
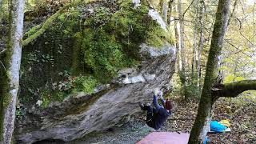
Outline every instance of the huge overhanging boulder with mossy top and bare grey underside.
{"type": "Polygon", "coordinates": [[[139,111],[138,102],[152,101],[154,88],[171,89],[176,50],[170,35],[161,16],[137,0],[66,10],[22,51],[18,143],[69,142],[129,121],[139,111]],[[82,84],[91,85],[56,88],[66,72],[74,78],[90,75],[82,84]]]}

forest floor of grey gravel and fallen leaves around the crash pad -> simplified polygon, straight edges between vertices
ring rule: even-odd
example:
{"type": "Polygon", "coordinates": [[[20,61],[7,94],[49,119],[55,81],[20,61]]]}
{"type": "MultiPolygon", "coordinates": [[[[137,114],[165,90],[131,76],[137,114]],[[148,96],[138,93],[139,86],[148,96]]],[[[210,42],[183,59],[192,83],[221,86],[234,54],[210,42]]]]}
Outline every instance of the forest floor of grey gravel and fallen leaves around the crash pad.
{"type": "MultiPolygon", "coordinates": [[[[189,133],[197,113],[198,102],[178,102],[172,116],[158,131],[189,133]]],[[[135,143],[154,131],[145,124],[146,114],[134,116],[132,120],[121,127],[111,128],[97,134],[69,142],[84,143],[135,143]]],[[[222,98],[216,103],[213,120],[230,120],[231,132],[208,134],[209,143],[243,144],[256,143],[256,98],[239,97],[222,98]]]]}

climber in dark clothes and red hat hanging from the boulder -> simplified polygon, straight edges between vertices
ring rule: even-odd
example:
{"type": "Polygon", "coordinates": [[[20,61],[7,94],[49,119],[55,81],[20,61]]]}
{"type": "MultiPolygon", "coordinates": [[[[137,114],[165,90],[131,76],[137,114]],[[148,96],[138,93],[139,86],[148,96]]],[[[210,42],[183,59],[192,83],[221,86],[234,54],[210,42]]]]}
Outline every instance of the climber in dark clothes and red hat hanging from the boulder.
{"type": "Polygon", "coordinates": [[[146,104],[146,106],[144,106],[142,102],[139,102],[141,110],[147,110],[146,124],[154,128],[154,130],[158,130],[170,116],[173,105],[170,100],[166,99],[165,101],[164,98],[162,98],[161,90],[154,90],[153,104],[154,107],[150,106],[149,104],[146,104]],[[157,97],[161,99],[162,106],[158,104],[157,97]]]}

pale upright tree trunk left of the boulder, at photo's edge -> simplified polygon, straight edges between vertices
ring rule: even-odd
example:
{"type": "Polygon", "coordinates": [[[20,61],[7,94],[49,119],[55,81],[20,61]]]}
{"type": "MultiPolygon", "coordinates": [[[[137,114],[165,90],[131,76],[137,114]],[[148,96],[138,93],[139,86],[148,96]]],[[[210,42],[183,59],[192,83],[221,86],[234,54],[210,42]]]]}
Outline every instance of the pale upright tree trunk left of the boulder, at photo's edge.
{"type": "Polygon", "coordinates": [[[2,82],[1,141],[10,144],[14,132],[15,105],[19,87],[19,70],[22,58],[22,30],[24,0],[10,0],[10,26],[6,53],[6,74],[2,82]]]}

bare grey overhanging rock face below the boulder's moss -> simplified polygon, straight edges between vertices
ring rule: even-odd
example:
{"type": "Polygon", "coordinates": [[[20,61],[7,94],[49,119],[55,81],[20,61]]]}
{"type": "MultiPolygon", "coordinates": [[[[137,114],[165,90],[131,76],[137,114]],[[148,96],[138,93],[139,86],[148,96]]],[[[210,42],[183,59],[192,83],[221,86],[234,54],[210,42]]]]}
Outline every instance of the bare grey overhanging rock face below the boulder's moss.
{"type": "Polygon", "coordinates": [[[78,94],[63,102],[52,103],[45,110],[32,107],[26,119],[17,124],[18,143],[45,139],[71,141],[93,131],[122,125],[140,109],[138,102],[150,102],[156,87],[170,88],[174,74],[175,49],[156,49],[142,45],[144,59],[137,69],[119,71],[111,84],[98,86],[94,94],[78,94]]]}

